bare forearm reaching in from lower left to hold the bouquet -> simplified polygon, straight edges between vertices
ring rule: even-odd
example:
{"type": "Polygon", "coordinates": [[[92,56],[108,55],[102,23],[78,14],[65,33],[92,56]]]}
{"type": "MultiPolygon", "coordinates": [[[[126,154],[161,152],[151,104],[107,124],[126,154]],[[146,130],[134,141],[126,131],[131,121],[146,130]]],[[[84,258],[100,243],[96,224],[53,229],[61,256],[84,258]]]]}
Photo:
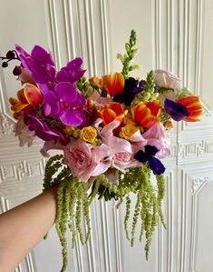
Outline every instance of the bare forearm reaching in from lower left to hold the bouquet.
{"type": "Polygon", "coordinates": [[[53,226],[54,187],[0,216],[0,271],[12,272],[53,226]]]}

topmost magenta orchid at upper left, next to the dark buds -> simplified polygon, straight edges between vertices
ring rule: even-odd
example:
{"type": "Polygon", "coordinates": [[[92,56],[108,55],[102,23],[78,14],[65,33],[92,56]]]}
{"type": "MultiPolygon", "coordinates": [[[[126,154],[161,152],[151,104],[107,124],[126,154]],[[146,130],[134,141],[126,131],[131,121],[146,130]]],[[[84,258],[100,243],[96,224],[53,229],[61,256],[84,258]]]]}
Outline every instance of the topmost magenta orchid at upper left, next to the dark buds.
{"type": "Polygon", "coordinates": [[[45,94],[53,90],[55,68],[52,55],[39,45],[34,45],[31,55],[19,45],[15,45],[15,49],[20,54],[22,65],[39,84],[41,91],[45,94]]]}

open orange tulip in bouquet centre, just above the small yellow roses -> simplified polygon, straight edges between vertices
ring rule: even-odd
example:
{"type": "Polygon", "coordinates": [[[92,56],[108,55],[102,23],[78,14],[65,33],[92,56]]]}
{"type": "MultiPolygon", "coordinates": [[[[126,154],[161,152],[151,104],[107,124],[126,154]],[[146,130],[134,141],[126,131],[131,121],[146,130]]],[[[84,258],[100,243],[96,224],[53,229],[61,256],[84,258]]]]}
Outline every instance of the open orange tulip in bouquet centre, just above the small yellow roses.
{"type": "Polygon", "coordinates": [[[105,126],[115,119],[123,122],[126,112],[120,103],[110,102],[103,108],[97,110],[98,116],[102,118],[102,126],[105,126]]]}

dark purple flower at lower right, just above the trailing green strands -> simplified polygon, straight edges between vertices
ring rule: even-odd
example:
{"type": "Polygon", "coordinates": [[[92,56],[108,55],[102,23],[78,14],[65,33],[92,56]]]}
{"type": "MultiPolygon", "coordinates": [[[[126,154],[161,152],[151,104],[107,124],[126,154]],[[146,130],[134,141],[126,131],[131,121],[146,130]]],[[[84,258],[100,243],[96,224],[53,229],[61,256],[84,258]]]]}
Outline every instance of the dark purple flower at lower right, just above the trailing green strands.
{"type": "Polygon", "coordinates": [[[160,160],[155,157],[156,153],[159,149],[156,146],[145,146],[145,152],[139,150],[135,155],[134,158],[140,161],[140,163],[148,162],[150,169],[152,170],[154,175],[163,174],[165,171],[165,167],[160,162],[160,160]]]}

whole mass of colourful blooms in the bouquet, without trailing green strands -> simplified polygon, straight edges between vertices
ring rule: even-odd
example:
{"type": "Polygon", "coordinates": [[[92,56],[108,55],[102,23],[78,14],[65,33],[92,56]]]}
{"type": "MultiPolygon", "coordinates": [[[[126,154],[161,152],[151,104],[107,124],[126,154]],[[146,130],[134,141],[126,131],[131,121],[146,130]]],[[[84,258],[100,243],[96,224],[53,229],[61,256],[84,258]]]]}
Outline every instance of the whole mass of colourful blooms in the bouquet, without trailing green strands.
{"type": "Polygon", "coordinates": [[[202,113],[198,96],[166,70],[151,71],[145,80],[122,73],[86,80],[80,57],[57,72],[43,47],[35,45],[31,54],[15,49],[23,84],[9,100],[16,135],[28,145],[34,136],[43,139],[44,156],[49,149],[63,150],[64,164],[80,181],[144,163],[162,174],[172,119],[197,121],[202,113]]]}

